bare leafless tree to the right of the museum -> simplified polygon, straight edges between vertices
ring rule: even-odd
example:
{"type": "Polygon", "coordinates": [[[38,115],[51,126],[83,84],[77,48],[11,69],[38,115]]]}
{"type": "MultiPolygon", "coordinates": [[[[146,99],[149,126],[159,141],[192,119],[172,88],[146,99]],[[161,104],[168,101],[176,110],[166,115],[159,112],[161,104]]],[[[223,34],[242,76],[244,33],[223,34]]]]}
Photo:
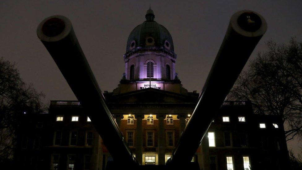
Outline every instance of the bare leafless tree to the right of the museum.
{"type": "Polygon", "coordinates": [[[228,99],[250,100],[256,114],[280,115],[287,141],[302,131],[302,42],[267,43],[240,74],[228,99]]]}

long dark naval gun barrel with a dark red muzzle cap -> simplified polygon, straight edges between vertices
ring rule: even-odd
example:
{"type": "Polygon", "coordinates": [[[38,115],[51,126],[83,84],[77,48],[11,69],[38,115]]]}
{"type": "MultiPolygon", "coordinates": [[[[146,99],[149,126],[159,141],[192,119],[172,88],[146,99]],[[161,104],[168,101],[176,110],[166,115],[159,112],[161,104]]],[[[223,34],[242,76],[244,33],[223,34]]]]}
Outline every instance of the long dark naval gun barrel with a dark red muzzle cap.
{"type": "Polygon", "coordinates": [[[116,165],[132,168],[139,165],[106,105],[71,21],[62,15],[50,16],[39,24],[37,36],[84,107],[116,165]]]}

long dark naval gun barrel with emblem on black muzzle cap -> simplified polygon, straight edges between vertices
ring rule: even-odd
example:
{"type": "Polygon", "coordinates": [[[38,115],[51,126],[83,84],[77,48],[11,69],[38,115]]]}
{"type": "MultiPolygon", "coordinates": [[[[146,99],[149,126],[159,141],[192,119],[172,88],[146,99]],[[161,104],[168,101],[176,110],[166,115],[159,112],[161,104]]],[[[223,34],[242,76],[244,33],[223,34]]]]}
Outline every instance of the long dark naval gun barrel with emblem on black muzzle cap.
{"type": "Polygon", "coordinates": [[[264,18],[254,11],[243,10],[232,15],[197,105],[166,165],[180,167],[190,163],[201,141],[207,139],[205,135],[214,116],[266,29],[264,18]]]}

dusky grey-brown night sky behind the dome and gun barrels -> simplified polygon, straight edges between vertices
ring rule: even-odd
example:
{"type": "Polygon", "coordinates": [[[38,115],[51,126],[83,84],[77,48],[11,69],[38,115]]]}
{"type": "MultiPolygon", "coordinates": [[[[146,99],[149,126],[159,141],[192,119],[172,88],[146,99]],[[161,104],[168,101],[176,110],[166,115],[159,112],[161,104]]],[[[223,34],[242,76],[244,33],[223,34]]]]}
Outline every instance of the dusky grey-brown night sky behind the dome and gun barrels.
{"type": "MultiPolygon", "coordinates": [[[[50,15],[67,16],[102,90],[112,91],[124,72],[123,54],[132,29],[145,21],[151,4],[155,21],[165,26],[178,55],[176,72],[188,91],[200,92],[214,62],[230,17],[248,9],[268,25],[250,60],[265,42],[302,39],[302,1],[1,1],[0,57],[16,63],[22,79],[50,100],[76,100],[50,54],[37,38],[38,24],[50,15]]],[[[85,89],[83,89],[85,90],[85,89]]],[[[298,142],[289,148],[298,150],[298,142]]]]}

